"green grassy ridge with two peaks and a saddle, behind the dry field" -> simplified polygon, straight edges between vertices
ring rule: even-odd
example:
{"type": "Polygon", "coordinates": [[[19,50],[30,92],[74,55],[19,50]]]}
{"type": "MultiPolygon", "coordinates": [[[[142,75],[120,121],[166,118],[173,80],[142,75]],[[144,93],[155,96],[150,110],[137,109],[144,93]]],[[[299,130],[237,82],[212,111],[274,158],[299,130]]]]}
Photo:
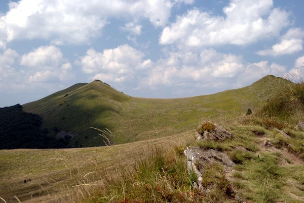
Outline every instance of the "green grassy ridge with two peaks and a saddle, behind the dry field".
{"type": "MultiPolygon", "coordinates": [[[[198,126],[202,119],[234,118],[264,104],[286,80],[265,76],[250,86],[211,95],[154,99],[131,97],[93,81],[75,84],[36,102],[26,112],[43,117],[44,127],[72,133],[71,146],[103,145],[96,130],[108,128],[116,143],[169,136],[198,126]],[[68,94],[67,96],[65,96],[68,94]]],[[[51,132],[55,135],[55,132],[51,132]]]]}

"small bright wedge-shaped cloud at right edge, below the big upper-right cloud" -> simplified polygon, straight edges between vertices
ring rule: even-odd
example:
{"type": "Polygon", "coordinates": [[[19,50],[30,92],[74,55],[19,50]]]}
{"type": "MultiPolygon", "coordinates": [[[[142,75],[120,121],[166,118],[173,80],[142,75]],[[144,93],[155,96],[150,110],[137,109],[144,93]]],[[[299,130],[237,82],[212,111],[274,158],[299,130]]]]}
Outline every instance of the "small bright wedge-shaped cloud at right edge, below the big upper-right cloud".
{"type": "Polygon", "coordinates": [[[291,28],[281,37],[281,41],[274,44],[271,49],[259,50],[256,52],[260,56],[281,56],[290,55],[303,49],[304,30],[301,28],[291,28]]]}

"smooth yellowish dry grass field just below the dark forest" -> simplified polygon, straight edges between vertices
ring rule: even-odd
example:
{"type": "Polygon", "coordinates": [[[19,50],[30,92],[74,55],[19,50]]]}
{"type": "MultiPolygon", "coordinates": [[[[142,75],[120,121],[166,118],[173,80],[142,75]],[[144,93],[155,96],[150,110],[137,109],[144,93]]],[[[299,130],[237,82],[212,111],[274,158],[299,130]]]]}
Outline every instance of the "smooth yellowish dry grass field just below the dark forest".
{"type": "Polygon", "coordinates": [[[167,148],[189,137],[191,132],[110,147],[0,150],[0,197],[8,202],[15,201],[14,195],[21,201],[53,199],[53,194],[64,194],[80,181],[100,180],[105,169],[115,173],[118,166],[144,156],[149,147],[167,148]]]}

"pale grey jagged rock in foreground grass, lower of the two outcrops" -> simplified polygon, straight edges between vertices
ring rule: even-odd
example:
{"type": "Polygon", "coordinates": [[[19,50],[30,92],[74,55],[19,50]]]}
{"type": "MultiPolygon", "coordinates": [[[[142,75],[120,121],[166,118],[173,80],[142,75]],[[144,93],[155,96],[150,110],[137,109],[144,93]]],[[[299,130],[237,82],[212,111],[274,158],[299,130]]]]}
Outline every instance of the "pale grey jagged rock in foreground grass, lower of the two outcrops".
{"type": "Polygon", "coordinates": [[[198,187],[200,190],[203,189],[204,165],[212,162],[219,162],[224,166],[224,171],[226,172],[232,170],[231,167],[235,165],[227,154],[213,149],[204,150],[200,147],[187,147],[184,154],[187,159],[188,174],[193,171],[197,175],[197,182],[193,183],[193,187],[198,187]]]}

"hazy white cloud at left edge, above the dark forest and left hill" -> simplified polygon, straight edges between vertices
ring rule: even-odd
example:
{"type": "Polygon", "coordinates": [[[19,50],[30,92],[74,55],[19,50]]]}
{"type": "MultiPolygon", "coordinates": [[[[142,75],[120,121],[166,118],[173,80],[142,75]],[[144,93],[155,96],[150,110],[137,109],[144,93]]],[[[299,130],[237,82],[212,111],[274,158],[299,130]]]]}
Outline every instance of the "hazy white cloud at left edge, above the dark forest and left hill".
{"type": "Polygon", "coordinates": [[[62,89],[73,78],[71,64],[55,46],[41,46],[22,56],[13,49],[0,53],[0,92],[47,95],[62,89]]]}

